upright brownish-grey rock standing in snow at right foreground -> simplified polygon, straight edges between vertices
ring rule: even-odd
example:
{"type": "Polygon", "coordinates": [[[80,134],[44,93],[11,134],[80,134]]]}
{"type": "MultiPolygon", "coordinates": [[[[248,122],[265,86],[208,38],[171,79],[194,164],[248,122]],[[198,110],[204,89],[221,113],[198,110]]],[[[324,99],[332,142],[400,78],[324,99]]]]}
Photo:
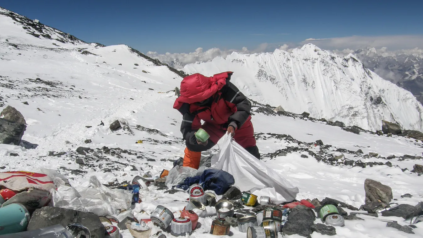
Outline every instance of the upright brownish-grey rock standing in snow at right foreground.
{"type": "Polygon", "coordinates": [[[367,178],[364,181],[364,191],[366,204],[375,201],[389,204],[389,202],[393,199],[392,189],[390,186],[383,185],[382,183],[370,178],[367,178]]]}

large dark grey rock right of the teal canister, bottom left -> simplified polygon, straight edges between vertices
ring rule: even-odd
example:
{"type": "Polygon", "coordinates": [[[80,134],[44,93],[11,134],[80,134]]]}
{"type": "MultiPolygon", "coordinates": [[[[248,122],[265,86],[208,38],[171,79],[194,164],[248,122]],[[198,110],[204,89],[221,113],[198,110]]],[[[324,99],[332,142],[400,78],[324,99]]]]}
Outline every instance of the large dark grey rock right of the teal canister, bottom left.
{"type": "Polygon", "coordinates": [[[27,230],[37,230],[61,224],[79,223],[91,232],[91,238],[104,238],[104,225],[98,216],[65,208],[43,207],[32,214],[27,230]]]}

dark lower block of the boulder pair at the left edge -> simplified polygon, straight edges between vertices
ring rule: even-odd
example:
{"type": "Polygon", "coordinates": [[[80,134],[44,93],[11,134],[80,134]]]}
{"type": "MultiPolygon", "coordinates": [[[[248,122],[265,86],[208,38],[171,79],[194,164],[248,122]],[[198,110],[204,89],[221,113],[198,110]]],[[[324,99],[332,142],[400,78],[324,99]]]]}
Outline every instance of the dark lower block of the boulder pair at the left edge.
{"type": "Polygon", "coordinates": [[[0,144],[19,145],[26,130],[26,125],[0,118],[0,144]]]}

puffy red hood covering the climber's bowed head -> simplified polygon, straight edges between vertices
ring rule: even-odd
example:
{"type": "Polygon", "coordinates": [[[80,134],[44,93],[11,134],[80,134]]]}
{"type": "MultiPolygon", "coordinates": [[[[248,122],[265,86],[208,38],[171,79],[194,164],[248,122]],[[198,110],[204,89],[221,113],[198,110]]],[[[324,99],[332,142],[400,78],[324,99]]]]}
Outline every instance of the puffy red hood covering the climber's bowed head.
{"type": "Polygon", "coordinates": [[[181,107],[183,103],[195,103],[206,100],[226,84],[226,78],[233,72],[214,74],[213,77],[206,77],[203,74],[192,74],[184,77],[181,82],[181,96],[176,99],[173,108],[181,107]]]}

